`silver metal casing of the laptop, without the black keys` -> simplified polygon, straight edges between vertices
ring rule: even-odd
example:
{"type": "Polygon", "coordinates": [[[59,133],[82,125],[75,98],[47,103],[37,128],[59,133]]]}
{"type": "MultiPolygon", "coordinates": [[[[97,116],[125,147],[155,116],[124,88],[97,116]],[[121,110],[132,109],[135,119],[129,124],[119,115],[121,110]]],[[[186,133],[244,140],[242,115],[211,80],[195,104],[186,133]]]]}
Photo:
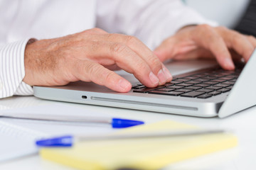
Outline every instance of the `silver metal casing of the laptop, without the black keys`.
{"type": "MultiPolygon", "coordinates": [[[[206,72],[216,67],[213,61],[169,62],[166,67],[175,77],[206,72]]],[[[137,84],[132,74],[119,72],[125,79],[137,84]]],[[[98,106],[129,108],[141,111],[224,118],[256,105],[256,52],[242,69],[231,91],[210,98],[188,98],[159,94],[117,93],[105,86],[88,82],[73,82],[66,86],[34,86],[34,96],[54,101],[85,103],[98,106]]]]}

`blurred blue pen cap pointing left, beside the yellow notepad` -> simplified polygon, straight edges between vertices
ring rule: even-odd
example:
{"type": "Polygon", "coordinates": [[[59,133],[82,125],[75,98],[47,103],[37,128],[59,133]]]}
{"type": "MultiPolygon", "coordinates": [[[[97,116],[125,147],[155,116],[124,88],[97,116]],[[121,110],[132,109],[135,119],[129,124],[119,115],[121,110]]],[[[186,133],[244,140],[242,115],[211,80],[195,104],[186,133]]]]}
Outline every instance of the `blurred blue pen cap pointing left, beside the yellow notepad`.
{"type": "Polygon", "coordinates": [[[38,140],[36,141],[36,145],[38,147],[71,147],[73,145],[73,136],[66,135],[46,140],[38,140]]]}

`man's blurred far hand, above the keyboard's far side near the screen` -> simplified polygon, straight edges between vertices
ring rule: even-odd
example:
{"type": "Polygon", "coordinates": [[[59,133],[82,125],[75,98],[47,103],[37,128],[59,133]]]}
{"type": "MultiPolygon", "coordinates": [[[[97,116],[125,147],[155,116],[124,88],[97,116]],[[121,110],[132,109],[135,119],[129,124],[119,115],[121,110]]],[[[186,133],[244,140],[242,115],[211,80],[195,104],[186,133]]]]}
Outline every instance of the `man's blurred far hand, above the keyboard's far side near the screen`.
{"type": "Polygon", "coordinates": [[[256,47],[256,39],[235,30],[207,25],[182,28],[167,38],[154,53],[161,61],[216,57],[223,69],[235,69],[232,57],[247,62],[256,47]],[[231,57],[232,56],[232,57],[231,57]]]}

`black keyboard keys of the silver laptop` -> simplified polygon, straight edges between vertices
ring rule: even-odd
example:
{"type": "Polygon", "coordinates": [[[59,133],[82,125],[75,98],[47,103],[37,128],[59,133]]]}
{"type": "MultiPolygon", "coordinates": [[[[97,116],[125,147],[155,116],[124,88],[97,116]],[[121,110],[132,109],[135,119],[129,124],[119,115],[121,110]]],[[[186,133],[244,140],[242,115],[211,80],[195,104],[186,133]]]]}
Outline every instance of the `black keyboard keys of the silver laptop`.
{"type": "Polygon", "coordinates": [[[242,69],[226,71],[211,69],[208,71],[174,77],[170,83],[156,88],[142,84],[132,87],[134,93],[181,96],[187,98],[210,98],[230,91],[242,69]]]}

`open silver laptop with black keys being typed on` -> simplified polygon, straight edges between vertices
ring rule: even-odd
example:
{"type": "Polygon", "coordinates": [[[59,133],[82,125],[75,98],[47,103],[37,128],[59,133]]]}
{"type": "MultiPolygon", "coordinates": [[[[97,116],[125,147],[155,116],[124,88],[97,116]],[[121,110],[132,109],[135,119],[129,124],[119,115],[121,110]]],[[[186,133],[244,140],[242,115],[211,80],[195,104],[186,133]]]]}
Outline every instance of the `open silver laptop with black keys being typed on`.
{"type": "Polygon", "coordinates": [[[119,72],[132,82],[128,93],[117,93],[92,82],[66,86],[34,86],[34,96],[54,101],[129,108],[157,113],[224,118],[256,105],[256,50],[245,67],[225,71],[211,60],[169,62],[173,81],[147,88],[132,74],[119,72]]]}

